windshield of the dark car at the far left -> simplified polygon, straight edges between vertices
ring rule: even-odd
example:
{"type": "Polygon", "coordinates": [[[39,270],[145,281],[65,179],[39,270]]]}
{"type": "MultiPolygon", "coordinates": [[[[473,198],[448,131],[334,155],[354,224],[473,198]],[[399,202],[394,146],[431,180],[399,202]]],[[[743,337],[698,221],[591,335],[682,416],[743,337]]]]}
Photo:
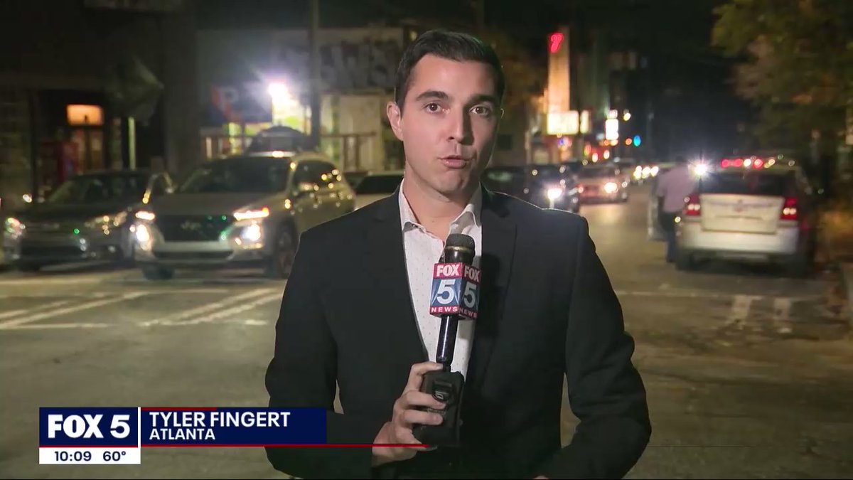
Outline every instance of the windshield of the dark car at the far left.
{"type": "Polygon", "coordinates": [[[81,175],[61,184],[48,203],[134,202],[145,193],[148,175],[102,173],[81,175]]]}

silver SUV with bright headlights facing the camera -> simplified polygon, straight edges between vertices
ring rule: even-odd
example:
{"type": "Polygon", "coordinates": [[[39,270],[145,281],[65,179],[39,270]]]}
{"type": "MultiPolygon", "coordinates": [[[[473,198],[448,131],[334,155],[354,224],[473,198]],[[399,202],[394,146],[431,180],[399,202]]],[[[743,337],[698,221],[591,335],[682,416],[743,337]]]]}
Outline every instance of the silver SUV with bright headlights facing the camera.
{"type": "Polygon", "coordinates": [[[148,279],[183,267],[263,267],[287,278],[299,235],[355,208],[338,168],[316,152],[208,161],[136,213],[134,256],[148,279]]]}

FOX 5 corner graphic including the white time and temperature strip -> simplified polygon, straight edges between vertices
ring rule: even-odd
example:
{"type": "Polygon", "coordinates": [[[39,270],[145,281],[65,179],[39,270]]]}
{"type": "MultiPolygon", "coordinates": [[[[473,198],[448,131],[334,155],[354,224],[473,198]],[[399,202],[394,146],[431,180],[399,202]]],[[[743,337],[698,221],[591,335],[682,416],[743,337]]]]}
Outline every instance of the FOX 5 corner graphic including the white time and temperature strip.
{"type": "Polygon", "coordinates": [[[138,408],[38,409],[40,465],[139,465],[138,408]]]}

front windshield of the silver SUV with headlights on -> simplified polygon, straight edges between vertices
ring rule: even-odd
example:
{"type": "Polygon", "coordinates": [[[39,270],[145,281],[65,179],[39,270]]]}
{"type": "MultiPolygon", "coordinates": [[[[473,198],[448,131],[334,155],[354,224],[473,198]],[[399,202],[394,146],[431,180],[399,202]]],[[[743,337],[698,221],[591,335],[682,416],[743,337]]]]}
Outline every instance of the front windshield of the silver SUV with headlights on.
{"type": "Polygon", "coordinates": [[[285,158],[230,158],[197,167],[181,193],[274,193],[287,187],[290,161],[285,158]]]}

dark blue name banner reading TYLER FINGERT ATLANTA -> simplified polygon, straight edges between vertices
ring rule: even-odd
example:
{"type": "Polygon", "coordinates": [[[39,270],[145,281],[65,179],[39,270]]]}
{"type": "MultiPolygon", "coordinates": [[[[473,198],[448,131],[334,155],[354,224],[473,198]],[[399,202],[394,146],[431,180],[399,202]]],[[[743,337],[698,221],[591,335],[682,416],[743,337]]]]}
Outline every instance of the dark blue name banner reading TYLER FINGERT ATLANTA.
{"type": "Polygon", "coordinates": [[[142,447],[264,447],[326,443],[322,408],[142,407],[142,447]]]}

